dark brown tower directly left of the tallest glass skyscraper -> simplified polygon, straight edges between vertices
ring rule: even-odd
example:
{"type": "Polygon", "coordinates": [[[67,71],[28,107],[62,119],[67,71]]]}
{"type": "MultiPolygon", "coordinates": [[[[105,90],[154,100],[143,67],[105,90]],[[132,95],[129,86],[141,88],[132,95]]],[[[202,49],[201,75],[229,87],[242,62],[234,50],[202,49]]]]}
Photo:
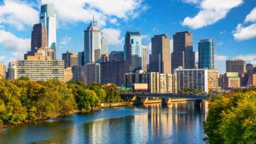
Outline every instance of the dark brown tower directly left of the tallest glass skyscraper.
{"type": "Polygon", "coordinates": [[[48,46],[47,30],[43,23],[35,24],[31,32],[31,51],[35,52],[36,47],[48,46]]]}

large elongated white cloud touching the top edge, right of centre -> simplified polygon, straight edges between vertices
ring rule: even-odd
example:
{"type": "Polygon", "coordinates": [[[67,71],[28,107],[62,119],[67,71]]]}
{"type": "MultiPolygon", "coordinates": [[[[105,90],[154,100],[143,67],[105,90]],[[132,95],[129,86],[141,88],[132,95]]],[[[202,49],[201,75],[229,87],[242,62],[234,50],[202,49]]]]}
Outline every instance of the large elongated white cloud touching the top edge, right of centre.
{"type": "Polygon", "coordinates": [[[227,13],[236,6],[242,4],[242,0],[205,0],[200,3],[201,10],[195,17],[186,17],[182,25],[191,29],[199,29],[212,25],[226,17],[227,13]]]}

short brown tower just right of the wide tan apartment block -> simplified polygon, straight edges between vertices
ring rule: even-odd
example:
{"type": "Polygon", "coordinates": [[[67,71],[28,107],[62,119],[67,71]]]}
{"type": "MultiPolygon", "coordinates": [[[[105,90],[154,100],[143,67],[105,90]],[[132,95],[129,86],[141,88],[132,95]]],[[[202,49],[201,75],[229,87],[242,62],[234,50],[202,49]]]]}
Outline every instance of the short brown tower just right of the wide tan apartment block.
{"type": "Polygon", "coordinates": [[[65,61],[65,68],[78,65],[78,53],[67,51],[62,53],[62,60],[65,61]]]}

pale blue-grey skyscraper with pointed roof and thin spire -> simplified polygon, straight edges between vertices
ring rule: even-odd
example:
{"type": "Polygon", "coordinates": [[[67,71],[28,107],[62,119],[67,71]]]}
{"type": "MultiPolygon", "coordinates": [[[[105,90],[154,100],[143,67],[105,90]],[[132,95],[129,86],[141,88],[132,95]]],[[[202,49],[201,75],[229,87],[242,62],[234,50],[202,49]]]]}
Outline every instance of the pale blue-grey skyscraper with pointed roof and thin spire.
{"type": "Polygon", "coordinates": [[[100,63],[101,58],[101,31],[92,23],[85,30],[85,64],[100,63]]]}

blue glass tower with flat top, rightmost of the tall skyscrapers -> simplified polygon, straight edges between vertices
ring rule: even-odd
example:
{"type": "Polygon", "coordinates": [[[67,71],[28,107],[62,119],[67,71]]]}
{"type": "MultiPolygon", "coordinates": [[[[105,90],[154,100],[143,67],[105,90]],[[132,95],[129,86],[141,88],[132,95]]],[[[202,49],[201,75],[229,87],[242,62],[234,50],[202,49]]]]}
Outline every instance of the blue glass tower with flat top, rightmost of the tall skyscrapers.
{"type": "Polygon", "coordinates": [[[214,69],[214,40],[202,39],[198,43],[198,68],[214,69]]]}

